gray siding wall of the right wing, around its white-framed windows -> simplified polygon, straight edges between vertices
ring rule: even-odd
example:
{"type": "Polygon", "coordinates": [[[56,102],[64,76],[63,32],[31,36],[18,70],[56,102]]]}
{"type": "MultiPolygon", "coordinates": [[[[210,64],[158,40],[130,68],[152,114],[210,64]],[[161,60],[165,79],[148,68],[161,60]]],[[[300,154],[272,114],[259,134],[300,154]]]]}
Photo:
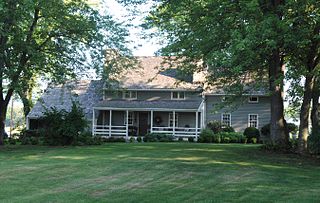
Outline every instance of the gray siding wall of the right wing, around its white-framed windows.
{"type": "Polygon", "coordinates": [[[214,112],[214,107],[221,104],[222,96],[206,96],[206,123],[212,120],[221,121],[221,113],[231,113],[231,126],[239,132],[244,131],[248,127],[248,114],[258,114],[258,128],[261,129],[264,125],[270,123],[270,98],[259,96],[259,103],[248,103],[248,99],[240,98],[243,101],[238,108],[220,109],[214,112]]]}

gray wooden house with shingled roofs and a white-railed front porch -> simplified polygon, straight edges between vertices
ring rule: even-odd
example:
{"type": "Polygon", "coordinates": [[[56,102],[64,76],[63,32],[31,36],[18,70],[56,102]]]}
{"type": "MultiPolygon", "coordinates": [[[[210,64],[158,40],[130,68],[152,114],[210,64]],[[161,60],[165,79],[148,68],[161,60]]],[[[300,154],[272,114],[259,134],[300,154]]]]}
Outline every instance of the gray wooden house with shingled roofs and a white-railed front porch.
{"type": "Polygon", "coordinates": [[[113,82],[80,80],[49,87],[27,116],[27,127],[38,127],[45,108],[70,110],[72,101],[84,108],[92,134],[101,136],[198,137],[212,120],[236,131],[270,122],[270,101],[264,93],[243,96],[244,102],[232,112],[213,112],[226,95],[204,91],[201,74],[190,77],[177,69],[159,69],[162,57],[138,57],[138,61],[139,68],[124,71],[113,82]]]}

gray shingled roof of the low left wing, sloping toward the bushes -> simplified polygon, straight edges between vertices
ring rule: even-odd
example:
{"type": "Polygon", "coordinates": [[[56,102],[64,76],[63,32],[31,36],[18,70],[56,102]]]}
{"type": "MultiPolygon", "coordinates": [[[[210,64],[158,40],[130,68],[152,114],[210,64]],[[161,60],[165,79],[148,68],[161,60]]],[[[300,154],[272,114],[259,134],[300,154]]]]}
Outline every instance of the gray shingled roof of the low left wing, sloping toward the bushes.
{"type": "Polygon", "coordinates": [[[78,101],[87,118],[91,118],[92,107],[102,100],[102,80],[80,80],[65,85],[48,87],[39,101],[28,114],[29,118],[43,115],[45,108],[56,107],[58,110],[71,110],[72,101],[78,101]]]}

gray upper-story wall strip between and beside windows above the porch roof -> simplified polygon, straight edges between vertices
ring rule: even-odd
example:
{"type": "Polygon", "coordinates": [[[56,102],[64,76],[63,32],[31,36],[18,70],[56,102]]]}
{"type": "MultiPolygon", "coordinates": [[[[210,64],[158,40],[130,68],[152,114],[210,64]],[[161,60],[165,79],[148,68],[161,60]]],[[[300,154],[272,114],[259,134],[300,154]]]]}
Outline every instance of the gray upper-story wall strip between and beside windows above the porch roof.
{"type": "MultiPolygon", "coordinates": [[[[122,99],[122,92],[119,91],[105,91],[105,99],[122,99]]],[[[170,100],[171,91],[137,91],[138,100],[170,100]]],[[[185,99],[201,99],[201,93],[196,91],[186,91],[185,99]]]]}

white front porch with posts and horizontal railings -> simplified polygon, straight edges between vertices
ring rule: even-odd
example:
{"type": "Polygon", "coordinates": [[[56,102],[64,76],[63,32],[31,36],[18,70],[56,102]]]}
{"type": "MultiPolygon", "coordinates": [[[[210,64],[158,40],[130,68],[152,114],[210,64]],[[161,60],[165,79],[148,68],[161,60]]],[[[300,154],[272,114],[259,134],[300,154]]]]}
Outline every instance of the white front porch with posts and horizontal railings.
{"type": "Polygon", "coordinates": [[[198,109],[93,109],[93,136],[123,136],[128,139],[146,133],[163,133],[198,138],[202,127],[203,114],[198,109]]]}

